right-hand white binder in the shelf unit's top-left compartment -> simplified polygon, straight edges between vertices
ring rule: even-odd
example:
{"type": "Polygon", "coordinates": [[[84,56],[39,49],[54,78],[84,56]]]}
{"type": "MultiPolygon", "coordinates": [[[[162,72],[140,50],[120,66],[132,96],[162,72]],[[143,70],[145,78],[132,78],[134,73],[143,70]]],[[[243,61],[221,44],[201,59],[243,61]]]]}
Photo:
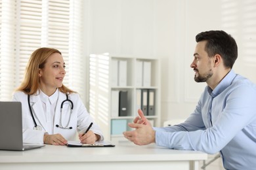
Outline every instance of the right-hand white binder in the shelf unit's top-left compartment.
{"type": "Polygon", "coordinates": [[[127,86],[127,61],[119,60],[119,84],[118,86],[127,86]]]}

